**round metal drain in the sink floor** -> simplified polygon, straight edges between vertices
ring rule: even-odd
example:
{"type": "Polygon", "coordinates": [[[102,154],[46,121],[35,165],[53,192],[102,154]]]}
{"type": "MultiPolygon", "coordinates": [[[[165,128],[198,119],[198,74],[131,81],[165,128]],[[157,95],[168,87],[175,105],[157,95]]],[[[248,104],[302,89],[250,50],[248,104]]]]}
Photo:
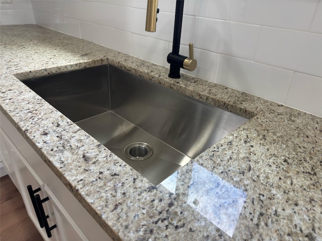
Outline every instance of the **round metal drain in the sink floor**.
{"type": "Polygon", "coordinates": [[[153,149],[144,142],[135,142],[127,145],[124,149],[127,158],[131,160],[145,160],[153,154],[153,149]]]}

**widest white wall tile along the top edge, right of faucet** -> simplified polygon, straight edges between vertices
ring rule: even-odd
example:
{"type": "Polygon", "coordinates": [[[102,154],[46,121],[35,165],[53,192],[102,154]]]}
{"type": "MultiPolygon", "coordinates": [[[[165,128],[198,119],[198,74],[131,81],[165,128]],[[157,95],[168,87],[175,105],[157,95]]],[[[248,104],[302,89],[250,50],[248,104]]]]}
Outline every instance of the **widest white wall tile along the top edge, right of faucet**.
{"type": "Polygon", "coordinates": [[[231,1],[228,20],[308,31],[317,1],[231,1]]]}

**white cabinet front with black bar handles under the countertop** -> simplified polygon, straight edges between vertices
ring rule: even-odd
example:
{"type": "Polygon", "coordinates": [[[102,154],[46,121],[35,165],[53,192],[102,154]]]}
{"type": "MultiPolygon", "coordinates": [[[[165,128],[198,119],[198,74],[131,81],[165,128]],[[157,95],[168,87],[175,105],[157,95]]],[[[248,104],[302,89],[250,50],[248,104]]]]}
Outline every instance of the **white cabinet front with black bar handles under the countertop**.
{"type": "Polygon", "coordinates": [[[1,158],[23,197],[31,220],[45,240],[112,240],[2,112],[1,158]],[[29,185],[34,190],[32,195],[39,195],[42,203],[33,204],[29,185]],[[41,207],[48,218],[39,217],[39,213],[37,216],[41,207]],[[47,227],[52,227],[49,232],[48,228],[46,231],[41,227],[47,225],[46,221],[47,227]]]}

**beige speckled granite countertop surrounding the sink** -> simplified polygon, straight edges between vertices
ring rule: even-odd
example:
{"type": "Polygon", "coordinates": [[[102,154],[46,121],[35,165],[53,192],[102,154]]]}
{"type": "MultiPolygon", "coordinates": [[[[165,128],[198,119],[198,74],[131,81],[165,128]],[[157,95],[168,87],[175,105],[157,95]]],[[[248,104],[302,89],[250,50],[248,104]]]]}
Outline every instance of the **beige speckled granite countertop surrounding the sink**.
{"type": "Polygon", "coordinates": [[[36,25],[0,35],[1,111],[113,239],[322,240],[322,118],[36,25]],[[101,64],[250,121],[153,186],[19,81],[101,64]]]}

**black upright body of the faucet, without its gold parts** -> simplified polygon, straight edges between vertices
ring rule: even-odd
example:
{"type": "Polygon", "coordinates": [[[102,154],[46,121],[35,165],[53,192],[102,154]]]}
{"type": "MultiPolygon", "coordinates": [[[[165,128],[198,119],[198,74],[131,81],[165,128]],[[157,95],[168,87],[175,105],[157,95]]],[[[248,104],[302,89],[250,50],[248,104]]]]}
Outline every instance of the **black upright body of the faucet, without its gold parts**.
{"type": "Polygon", "coordinates": [[[170,78],[180,78],[180,69],[183,68],[183,62],[187,58],[179,54],[184,2],[184,0],[177,0],[176,3],[172,52],[167,57],[167,61],[170,64],[170,78]]]}

